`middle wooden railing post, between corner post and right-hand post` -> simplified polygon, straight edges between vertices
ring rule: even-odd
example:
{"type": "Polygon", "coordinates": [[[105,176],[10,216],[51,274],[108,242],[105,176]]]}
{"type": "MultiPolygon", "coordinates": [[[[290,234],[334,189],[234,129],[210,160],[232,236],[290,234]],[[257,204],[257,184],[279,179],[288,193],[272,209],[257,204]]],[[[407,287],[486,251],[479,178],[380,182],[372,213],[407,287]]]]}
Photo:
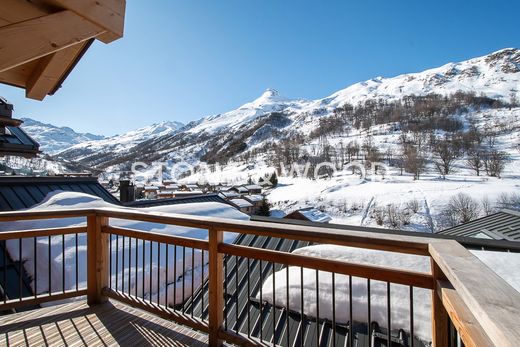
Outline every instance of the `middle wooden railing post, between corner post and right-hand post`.
{"type": "Polygon", "coordinates": [[[209,233],[209,345],[221,346],[219,331],[224,323],[224,256],[218,245],[224,240],[222,230],[210,228],[209,233]]]}

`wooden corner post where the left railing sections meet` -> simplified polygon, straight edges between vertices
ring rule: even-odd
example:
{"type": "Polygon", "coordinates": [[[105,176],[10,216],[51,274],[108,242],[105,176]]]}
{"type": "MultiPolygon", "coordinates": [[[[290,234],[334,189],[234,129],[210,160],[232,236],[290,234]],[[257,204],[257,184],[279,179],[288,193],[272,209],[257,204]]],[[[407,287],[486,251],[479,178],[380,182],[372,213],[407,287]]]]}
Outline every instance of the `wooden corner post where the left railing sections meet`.
{"type": "Polygon", "coordinates": [[[107,217],[89,215],[87,217],[87,303],[101,304],[108,300],[103,288],[108,284],[108,234],[101,229],[108,225],[107,217]]]}

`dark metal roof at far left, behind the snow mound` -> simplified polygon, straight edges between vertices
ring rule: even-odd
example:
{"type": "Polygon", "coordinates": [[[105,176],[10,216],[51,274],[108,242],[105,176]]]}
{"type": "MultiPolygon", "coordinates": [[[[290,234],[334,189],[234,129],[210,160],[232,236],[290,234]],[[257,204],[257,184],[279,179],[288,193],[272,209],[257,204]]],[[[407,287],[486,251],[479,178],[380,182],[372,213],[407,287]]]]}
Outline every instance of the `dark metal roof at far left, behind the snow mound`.
{"type": "Polygon", "coordinates": [[[43,201],[56,190],[94,195],[106,202],[120,205],[96,177],[59,176],[2,176],[0,177],[0,211],[16,211],[29,208],[43,201]]]}

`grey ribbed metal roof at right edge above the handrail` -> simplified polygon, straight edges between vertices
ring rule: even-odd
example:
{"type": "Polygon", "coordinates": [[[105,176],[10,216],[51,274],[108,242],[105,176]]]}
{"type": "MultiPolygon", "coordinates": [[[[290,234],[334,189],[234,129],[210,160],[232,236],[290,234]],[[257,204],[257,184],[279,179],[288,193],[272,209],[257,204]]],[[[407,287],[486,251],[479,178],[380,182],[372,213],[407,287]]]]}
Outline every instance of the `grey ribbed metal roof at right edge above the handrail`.
{"type": "Polygon", "coordinates": [[[489,216],[440,231],[439,234],[520,241],[520,213],[502,210],[489,216]]]}

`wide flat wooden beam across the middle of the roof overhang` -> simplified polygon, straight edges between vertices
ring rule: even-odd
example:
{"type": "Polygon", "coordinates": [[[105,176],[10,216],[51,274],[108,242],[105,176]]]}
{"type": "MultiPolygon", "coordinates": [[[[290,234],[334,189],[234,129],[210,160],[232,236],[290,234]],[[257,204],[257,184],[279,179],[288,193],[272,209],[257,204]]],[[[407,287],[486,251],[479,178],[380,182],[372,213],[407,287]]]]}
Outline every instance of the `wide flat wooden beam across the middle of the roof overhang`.
{"type": "Polygon", "coordinates": [[[0,28],[0,72],[104,33],[72,11],[62,11],[0,28]]]}

